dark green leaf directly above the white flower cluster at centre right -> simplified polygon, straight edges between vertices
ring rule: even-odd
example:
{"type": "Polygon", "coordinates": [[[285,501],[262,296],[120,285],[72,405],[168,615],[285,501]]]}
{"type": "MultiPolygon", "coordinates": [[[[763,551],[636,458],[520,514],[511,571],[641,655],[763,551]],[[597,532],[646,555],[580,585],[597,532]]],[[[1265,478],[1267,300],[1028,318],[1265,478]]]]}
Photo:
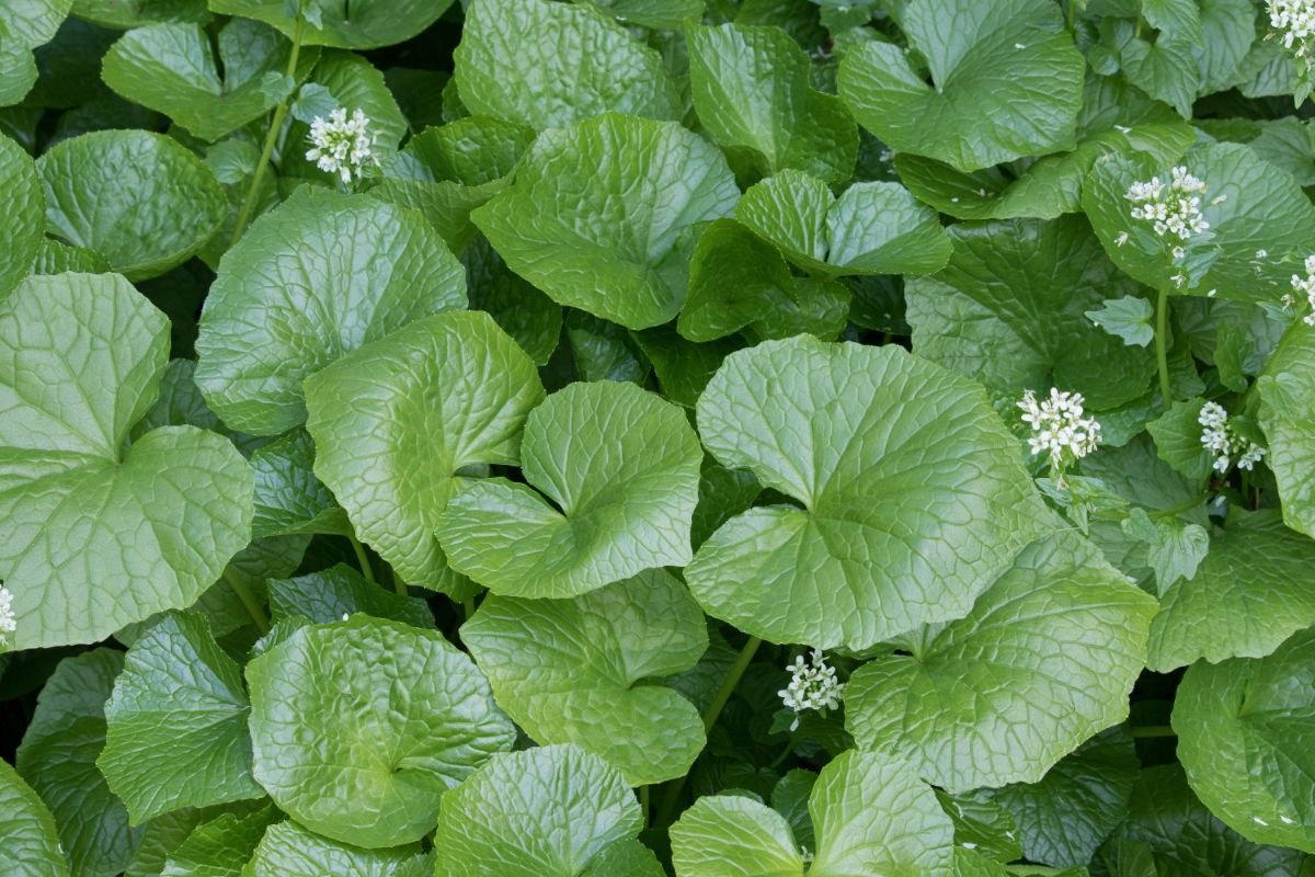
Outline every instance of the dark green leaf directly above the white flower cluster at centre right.
{"type": "Polygon", "coordinates": [[[955,252],[940,273],[905,284],[919,355],[1011,401],[1024,389],[1060,387],[1103,410],[1145,392],[1151,351],[1093,326],[1090,309],[1119,293],[1149,304],[1084,220],[956,225],[951,239],[955,252]]]}

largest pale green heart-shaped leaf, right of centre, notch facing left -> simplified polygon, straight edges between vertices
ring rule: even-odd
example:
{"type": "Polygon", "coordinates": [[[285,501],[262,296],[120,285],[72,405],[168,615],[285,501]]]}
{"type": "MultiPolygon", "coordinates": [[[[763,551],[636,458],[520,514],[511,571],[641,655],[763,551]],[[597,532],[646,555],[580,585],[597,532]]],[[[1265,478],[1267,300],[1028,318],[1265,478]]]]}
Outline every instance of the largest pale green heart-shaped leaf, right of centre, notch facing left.
{"type": "Polygon", "coordinates": [[[981,388],[901,347],[731,354],[698,431],[802,505],[731,518],[685,571],[709,614],[772,642],[861,650],[960,618],[1048,526],[981,388]]]}

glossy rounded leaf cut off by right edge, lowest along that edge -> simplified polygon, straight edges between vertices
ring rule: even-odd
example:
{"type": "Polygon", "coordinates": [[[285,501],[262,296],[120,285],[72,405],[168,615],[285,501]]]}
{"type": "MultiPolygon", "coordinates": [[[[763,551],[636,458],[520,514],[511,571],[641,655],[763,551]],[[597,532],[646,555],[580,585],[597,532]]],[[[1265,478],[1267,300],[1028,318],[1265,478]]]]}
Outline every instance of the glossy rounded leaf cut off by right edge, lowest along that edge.
{"type": "Polygon", "coordinates": [[[1173,730],[1211,813],[1256,843],[1315,852],[1315,631],[1268,657],[1194,664],[1173,730]]]}

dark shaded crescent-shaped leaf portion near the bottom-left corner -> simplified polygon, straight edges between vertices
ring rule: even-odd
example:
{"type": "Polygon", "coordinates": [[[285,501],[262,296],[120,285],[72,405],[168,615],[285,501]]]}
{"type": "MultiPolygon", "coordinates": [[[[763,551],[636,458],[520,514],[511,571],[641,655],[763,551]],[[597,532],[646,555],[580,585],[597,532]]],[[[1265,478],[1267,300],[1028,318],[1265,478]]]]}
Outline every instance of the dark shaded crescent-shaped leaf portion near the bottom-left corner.
{"type": "Polygon", "coordinates": [[[105,746],[104,703],[122,667],[122,653],[109,648],[59,661],[14,760],[18,776],[50,807],[74,877],[114,877],[141,838],[96,769],[105,746]]]}

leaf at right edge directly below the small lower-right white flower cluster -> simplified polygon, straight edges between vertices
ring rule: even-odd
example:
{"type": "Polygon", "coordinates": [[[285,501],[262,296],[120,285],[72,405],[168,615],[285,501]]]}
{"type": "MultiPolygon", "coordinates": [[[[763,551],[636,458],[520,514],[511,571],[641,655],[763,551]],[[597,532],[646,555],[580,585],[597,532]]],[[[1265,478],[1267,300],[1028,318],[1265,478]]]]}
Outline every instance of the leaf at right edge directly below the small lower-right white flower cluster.
{"type": "Polygon", "coordinates": [[[1311,564],[1315,542],[1285,527],[1276,511],[1235,510],[1195,577],[1164,594],[1147,664],[1168,672],[1198,657],[1270,653],[1315,622],[1315,593],[1306,584],[1311,564]]]}

